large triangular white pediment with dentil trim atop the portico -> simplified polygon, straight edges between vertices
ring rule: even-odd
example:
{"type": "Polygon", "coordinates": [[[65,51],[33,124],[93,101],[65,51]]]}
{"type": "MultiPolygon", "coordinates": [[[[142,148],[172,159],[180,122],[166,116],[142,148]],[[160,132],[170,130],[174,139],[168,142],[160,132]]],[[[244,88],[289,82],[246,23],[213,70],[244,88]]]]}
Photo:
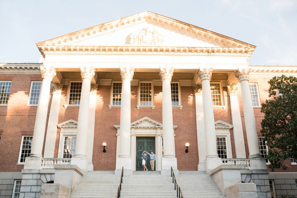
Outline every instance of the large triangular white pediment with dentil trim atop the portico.
{"type": "MultiPolygon", "coordinates": [[[[191,47],[205,48],[202,52],[213,51],[213,48],[255,48],[242,41],[149,11],[43,41],[37,46],[41,52],[45,49],[108,51],[108,46],[112,51],[131,51],[135,50],[135,46],[147,46],[147,51],[152,50],[149,47],[163,47],[161,51],[164,51],[166,46],[176,47],[176,51],[181,51],[182,47],[187,47],[186,51],[191,50],[191,47]]],[[[153,51],[158,51],[158,48],[153,51]]]]}

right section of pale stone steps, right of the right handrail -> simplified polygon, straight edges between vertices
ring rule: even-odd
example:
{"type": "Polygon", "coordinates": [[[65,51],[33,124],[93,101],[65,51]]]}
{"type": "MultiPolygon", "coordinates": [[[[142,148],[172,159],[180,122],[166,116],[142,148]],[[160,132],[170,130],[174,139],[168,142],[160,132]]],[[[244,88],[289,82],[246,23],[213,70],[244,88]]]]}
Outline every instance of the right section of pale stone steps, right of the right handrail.
{"type": "Polygon", "coordinates": [[[176,180],[185,198],[222,198],[222,194],[211,176],[204,171],[179,171],[176,180]]]}

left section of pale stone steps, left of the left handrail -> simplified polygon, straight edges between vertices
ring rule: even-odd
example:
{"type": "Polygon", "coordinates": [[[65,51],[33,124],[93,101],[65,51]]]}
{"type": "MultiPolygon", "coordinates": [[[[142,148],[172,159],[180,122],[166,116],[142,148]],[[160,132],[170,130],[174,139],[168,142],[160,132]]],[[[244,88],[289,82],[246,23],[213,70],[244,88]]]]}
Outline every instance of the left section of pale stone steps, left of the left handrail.
{"type": "Polygon", "coordinates": [[[72,197],[116,197],[120,175],[115,171],[89,171],[75,189],[72,197]]]}

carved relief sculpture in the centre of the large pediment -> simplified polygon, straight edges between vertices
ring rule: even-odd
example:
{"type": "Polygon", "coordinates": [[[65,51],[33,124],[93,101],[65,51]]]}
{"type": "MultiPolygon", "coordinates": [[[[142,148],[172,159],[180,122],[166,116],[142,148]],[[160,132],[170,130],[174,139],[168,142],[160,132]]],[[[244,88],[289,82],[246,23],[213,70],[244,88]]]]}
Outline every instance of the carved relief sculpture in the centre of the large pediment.
{"type": "Polygon", "coordinates": [[[159,34],[155,30],[149,28],[142,28],[135,33],[130,35],[130,44],[150,44],[157,45],[162,44],[164,36],[159,34]]]}

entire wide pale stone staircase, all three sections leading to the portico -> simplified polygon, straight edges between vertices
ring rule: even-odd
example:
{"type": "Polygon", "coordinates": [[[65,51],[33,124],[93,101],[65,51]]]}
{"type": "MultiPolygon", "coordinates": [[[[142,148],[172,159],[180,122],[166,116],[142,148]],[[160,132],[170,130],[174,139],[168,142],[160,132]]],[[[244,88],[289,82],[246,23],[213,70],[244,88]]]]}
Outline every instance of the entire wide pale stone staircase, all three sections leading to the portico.
{"type": "MultiPolygon", "coordinates": [[[[222,192],[204,171],[179,171],[176,175],[185,198],[222,198],[222,192]]],[[[72,198],[116,197],[120,175],[114,171],[89,171],[78,184],[72,198]]],[[[133,171],[124,175],[121,198],[176,198],[170,175],[160,171],[133,171]]]]}

